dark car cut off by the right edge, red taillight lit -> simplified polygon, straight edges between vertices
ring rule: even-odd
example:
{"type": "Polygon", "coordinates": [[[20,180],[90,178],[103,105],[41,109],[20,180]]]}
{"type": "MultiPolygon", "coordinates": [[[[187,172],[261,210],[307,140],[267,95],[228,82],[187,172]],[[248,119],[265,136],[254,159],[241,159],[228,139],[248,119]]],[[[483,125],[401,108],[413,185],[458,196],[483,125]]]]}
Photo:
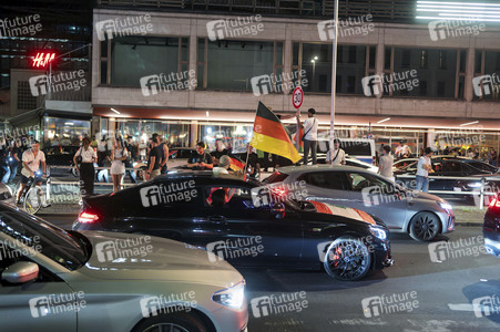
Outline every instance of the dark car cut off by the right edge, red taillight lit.
{"type": "Polygon", "coordinates": [[[493,197],[484,214],[482,234],[484,236],[486,250],[493,256],[500,257],[500,197],[498,194],[493,197]]]}

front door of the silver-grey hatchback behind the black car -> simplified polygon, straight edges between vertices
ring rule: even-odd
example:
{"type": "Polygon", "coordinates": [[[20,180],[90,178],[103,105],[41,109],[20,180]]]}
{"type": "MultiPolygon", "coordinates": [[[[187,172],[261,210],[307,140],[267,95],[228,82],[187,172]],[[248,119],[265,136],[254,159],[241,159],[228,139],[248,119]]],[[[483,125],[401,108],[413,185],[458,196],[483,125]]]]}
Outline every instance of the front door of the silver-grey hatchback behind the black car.
{"type": "MultiPolygon", "coordinates": [[[[411,196],[399,191],[381,176],[361,172],[346,172],[347,187],[344,197],[349,207],[380,218],[388,228],[401,228],[407,218],[411,196]]],[[[409,191],[408,191],[409,193],[409,191]]]]}

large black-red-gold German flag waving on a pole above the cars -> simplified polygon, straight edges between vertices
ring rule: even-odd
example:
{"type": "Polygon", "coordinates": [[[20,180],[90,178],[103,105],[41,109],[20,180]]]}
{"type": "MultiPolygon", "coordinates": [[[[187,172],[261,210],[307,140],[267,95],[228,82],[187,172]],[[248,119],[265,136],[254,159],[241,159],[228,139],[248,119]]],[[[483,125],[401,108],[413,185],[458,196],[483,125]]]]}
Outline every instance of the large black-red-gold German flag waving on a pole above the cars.
{"type": "Polygon", "coordinates": [[[256,149],[288,158],[294,164],[300,160],[279,118],[261,102],[258,102],[251,145],[256,149]]]}

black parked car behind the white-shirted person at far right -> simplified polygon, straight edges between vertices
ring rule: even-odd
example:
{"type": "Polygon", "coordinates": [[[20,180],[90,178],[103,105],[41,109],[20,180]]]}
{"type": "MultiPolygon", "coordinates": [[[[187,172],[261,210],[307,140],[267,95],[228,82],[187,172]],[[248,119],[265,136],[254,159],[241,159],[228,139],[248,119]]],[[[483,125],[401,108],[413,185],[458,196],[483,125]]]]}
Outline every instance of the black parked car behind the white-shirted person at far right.
{"type": "MultiPolygon", "coordinates": [[[[471,199],[473,198],[471,194],[457,195],[459,193],[479,193],[482,181],[488,188],[498,188],[500,186],[500,174],[492,169],[484,170],[475,166],[481,162],[452,156],[437,156],[431,158],[431,163],[433,173],[429,173],[429,191],[439,196],[471,199]]],[[[397,180],[411,187],[411,183],[415,184],[417,162],[395,170],[395,177],[397,180]]]]}

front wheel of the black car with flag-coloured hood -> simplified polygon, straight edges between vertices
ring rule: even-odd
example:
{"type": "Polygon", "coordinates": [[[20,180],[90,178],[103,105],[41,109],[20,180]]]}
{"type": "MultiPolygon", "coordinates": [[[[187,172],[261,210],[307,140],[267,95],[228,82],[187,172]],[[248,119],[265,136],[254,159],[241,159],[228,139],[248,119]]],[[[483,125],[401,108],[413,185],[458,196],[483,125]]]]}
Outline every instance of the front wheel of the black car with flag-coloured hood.
{"type": "Polygon", "coordinates": [[[368,273],[370,266],[371,253],[368,247],[354,237],[336,239],[326,251],[325,270],[338,280],[359,280],[368,273]]]}

